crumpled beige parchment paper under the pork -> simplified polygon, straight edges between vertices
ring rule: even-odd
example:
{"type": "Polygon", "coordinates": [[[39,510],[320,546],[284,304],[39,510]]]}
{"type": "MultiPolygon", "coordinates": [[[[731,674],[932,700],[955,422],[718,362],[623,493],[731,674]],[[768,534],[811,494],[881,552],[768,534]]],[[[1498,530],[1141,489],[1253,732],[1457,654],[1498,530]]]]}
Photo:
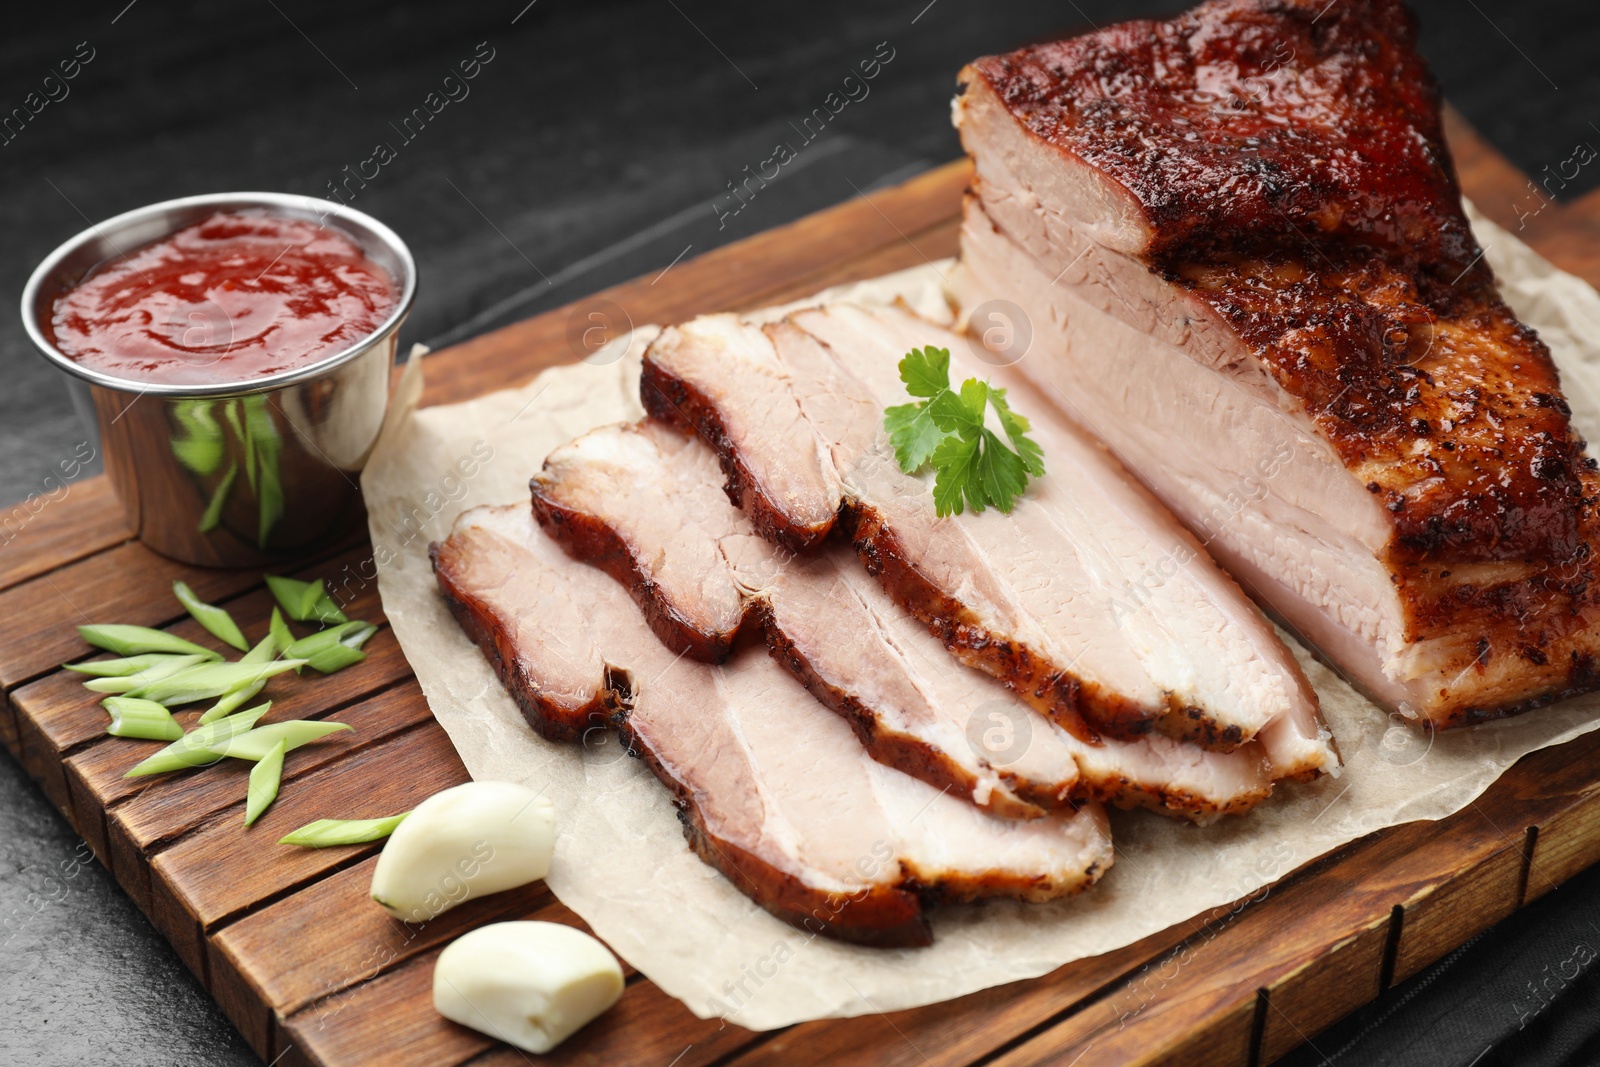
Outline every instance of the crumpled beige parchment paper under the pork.
{"type": "MultiPolygon", "coordinates": [[[[1600,296],[1510,234],[1477,216],[1474,222],[1507,301],[1555,352],[1573,418],[1595,440],[1600,296]]],[[[829,296],[902,294],[947,320],[947,267],[931,264],[829,296]]],[[[560,837],[550,889],[696,1014],[771,1029],[1045,974],[1238,901],[1381,827],[1448,816],[1522,755],[1600,725],[1600,697],[1589,696],[1430,739],[1390,721],[1296,646],[1346,758],[1338,777],[1280,787],[1253,814],[1210,827],[1117,813],[1117,861],[1098,888],[1046,905],[936,909],[928,949],[872,950],[810,937],[766,915],[688,851],[666,789],[614,737],[584,749],[534,734],[451,619],[429,568],[427,542],[443,537],[461,510],[525,504],[528,478],[554,446],[642,414],[638,358],[656,333],[637,330],[523,389],[405,418],[421,390],[422,360],[414,360],[362,488],[384,611],[467,769],[554,798],[560,837]]]]}

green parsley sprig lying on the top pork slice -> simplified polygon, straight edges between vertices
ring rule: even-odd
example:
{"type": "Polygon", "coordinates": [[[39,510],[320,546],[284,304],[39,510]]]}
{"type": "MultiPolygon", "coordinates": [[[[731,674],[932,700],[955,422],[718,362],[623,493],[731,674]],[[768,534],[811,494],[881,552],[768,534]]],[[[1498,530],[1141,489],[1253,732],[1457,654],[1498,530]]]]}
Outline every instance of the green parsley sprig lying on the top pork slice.
{"type": "Polygon", "coordinates": [[[906,392],[923,397],[883,411],[901,470],[917,474],[933,464],[933,504],[941,517],[966,507],[1010,514],[1029,475],[1043,477],[1045,453],[1027,435],[1027,419],[1011,411],[1005,389],[976,378],[950,389],[950,350],[931,346],[907,352],[899,371],[906,392]],[[1010,445],[986,426],[989,408],[1010,445]]]}

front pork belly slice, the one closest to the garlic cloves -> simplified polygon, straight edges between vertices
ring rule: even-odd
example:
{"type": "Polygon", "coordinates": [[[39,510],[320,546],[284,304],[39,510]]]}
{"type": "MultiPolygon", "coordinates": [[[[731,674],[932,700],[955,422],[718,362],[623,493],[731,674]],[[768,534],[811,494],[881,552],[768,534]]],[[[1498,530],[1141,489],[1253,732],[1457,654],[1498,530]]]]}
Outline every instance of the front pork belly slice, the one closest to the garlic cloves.
{"type": "Polygon", "coordinates": [[[768,656],[680,659],[627,593],[571,560],[526,506],[466,512],[432,547],[440,589],[528,721],[570,737],[614,709],[672,790],[690,845],[784,921],[872,945],[928,944],[926,904],[1046,901],[1110,865],[1094,805],[1013,821],[869,760],[768,656]]]}

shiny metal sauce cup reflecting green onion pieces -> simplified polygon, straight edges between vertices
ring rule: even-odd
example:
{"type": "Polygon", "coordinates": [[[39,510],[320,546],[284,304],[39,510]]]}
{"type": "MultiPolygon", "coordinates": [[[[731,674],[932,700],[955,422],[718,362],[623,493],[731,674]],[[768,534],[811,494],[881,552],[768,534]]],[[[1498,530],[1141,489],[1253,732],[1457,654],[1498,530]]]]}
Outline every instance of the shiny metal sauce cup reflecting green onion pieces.
{"type": "MultiPolygon", "coordinates": [[[[67,371],[74,405],[93,411],[128,523],[162,555],[253,566],[304,555],[363,520],[360,470],[389,406],[400,323],[416,299],[416,262],[382,222],[314,197],[270,192],[184,197],[91,226],[53,251],[22,290],[22,323],[67,371]],[[400,299],[374,333],[317,363],[242,382],[138,382],[82,366],[43,325],[56,298],[99,264],[216,211],[254,210],[336,229],[389,272],[400,299]]],[[[227,330],[197,315],[194,330],[227,330]]]]}

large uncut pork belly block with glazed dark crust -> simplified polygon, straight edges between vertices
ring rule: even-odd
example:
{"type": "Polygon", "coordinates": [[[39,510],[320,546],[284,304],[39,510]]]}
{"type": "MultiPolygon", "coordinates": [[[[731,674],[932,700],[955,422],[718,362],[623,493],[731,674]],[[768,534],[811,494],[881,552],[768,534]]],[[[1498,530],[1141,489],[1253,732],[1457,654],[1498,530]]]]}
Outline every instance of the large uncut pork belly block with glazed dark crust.
{"type": "Polygon", "coordinates": [[[1461,208],[1400,3],[979,59],[955,290],[1286,625],[1430,726],[1600,681],[1600,478],[1461,208]],[[1003,306],[1002,306],[1003,307],[1003,306]]]}

